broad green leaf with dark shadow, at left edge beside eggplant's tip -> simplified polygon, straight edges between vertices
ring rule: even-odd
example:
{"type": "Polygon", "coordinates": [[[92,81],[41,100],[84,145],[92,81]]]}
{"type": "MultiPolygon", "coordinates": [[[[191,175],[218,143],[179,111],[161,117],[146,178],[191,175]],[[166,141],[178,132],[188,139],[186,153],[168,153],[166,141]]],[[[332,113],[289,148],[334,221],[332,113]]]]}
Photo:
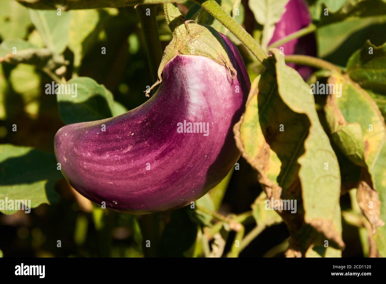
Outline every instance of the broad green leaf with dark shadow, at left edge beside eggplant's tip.
{"type": "Polygon", "coordinates": [[[62,177],[53,154],[31,147],[0,145],[0,200],[30,200],[31,208],[51,204],[58,197],[54,184],[62,177]]]}

